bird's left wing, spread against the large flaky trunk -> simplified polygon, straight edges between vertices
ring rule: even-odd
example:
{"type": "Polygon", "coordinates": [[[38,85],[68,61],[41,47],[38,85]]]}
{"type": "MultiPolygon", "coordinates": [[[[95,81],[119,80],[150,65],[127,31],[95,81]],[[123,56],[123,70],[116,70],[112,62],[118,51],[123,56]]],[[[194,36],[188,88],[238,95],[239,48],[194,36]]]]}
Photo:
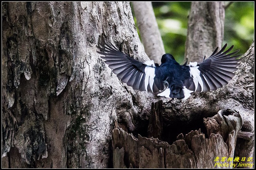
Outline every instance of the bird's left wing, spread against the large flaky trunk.
{"type": "Polygon", "coordinates": [[[116,47],[106,43],[98,47],[103,52],[98,52],[113,73],[124,83],[132,86],[134,90],[158,92],[164,85],[155,76],[154,61],[141,63],[130,56],[120,52],[116,47]]]}

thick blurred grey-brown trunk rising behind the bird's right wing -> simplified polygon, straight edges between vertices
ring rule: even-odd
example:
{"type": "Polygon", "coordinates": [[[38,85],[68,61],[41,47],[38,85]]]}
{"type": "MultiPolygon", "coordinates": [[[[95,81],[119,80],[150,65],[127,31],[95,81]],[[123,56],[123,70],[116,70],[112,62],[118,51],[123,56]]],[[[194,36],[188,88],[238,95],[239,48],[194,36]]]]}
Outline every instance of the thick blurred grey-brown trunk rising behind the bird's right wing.
{"type": "Polygon", "coordinates": [[[223,2],[192,2],[188,19],[185,58],[201,62],[222,46],[225,9],[223,2]]]}

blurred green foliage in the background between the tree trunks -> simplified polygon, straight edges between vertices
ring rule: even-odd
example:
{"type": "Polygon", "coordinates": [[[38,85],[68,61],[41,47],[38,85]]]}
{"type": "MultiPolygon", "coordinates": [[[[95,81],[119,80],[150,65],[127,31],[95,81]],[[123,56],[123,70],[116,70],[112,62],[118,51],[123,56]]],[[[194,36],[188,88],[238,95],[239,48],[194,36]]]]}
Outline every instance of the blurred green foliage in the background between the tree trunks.
{"type": "MultiPolygon", "coordinates": [[[[225,5],[229,2],[225,2],[225,5]]],[[[191,2],[152,2],[166,53],[182,63],[191,2]]],[[[232,2],[225,9],[224,42],[244,54],[254,39],[254,2],[232,2]]]]}

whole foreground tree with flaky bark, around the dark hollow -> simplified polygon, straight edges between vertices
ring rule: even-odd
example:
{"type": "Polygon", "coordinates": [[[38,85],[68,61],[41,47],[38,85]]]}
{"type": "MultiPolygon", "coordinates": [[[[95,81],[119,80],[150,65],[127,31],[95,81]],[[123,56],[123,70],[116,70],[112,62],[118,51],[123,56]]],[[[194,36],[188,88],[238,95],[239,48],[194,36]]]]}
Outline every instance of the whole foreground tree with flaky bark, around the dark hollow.
{"type": "Polygon", "coordinates": [[[228,85],[149,113],[154,95],[121,83],[96,53],[110,41],[148,59],[129,3],[4,2],[2,24],[3,167],[204,167],[235,144],[235,156],[253,157],[254,42],[228,85]],[[182,163],[168,164],[174,155],[182,163]]]}

